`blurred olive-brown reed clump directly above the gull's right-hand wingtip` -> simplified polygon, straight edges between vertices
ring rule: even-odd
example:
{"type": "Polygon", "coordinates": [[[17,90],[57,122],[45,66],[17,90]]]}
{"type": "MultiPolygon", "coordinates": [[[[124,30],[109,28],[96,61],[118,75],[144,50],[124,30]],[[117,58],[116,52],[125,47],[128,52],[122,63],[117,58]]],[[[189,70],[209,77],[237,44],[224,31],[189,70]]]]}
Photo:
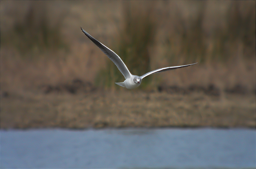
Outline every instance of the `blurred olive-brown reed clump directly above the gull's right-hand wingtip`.
{"type": "Polygon", "coordinates": [[[170,62],[184,58],[186,63],[203,61],[206,54],[206,39],[203,20],[206,2],[199,3],[198,12],[191,20],[185,20],[179,11],[172,20],[173,31],[168,37],[166,57],[170,62]],[[179,57],[177,57],[179,56],[179,57]]]}

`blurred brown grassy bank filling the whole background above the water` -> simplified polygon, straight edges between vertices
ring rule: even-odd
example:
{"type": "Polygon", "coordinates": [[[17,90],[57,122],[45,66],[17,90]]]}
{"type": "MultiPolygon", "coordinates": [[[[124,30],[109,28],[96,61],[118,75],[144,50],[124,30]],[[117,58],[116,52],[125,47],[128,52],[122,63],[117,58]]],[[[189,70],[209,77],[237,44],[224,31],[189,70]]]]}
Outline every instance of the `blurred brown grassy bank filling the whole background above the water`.
{"type": "Polygon", "coordinates": [[[133,1],[47,1],[47,14],[34,9],[45,25],[25,22],[30,3],[1,1],[1,128],[255,126],[255,1],[142,1],[141,11],[133,1]],[[199,63],[154,74],[146,88],[113,88],[124,78],[80,26],[133,74],[199,63]],[[141,69],[138,57],[149,60],[141,69]],[[97,86],[102,68],[113,78],[97,86]]]}

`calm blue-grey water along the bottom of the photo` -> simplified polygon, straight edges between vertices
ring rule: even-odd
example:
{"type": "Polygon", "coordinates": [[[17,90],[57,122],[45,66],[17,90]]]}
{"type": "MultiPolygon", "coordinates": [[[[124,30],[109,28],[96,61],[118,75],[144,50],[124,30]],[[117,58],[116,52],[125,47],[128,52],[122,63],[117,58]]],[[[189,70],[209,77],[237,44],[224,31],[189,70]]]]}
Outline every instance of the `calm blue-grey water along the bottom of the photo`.
{"type": "Polygon", "coordinates": [[[255,168],[253,129],[0,132],[1,168],[255,168]]]}

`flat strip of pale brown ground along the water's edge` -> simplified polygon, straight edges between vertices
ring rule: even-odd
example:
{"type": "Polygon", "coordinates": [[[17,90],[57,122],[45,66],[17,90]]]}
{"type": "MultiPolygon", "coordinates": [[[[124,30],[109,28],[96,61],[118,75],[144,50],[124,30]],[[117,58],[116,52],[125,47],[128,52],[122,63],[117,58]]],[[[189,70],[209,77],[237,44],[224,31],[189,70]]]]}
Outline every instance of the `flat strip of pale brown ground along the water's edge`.
{"type": "Polygon", "coordinates": [[[255,102],[253,94],[207,95],[203,91],[2,93],[1,129],[255,128],[255,102]]]}

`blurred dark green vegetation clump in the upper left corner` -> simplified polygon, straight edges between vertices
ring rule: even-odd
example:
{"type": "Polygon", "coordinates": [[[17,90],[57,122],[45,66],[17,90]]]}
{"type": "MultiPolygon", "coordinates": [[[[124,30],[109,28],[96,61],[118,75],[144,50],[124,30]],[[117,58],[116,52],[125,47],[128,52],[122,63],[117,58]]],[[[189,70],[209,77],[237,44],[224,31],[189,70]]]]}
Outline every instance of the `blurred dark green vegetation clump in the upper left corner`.
{"type": "Polygon", "coordinates": [[[53,20],[56,16],[50,16],[49,10],[48,3],[31,1],[24,18],[16,13],[13,28],[5,34],[1,33],[1,45],[16,48],[21,56],[68,49],[61,34],[66,12],[53,20]]]}

